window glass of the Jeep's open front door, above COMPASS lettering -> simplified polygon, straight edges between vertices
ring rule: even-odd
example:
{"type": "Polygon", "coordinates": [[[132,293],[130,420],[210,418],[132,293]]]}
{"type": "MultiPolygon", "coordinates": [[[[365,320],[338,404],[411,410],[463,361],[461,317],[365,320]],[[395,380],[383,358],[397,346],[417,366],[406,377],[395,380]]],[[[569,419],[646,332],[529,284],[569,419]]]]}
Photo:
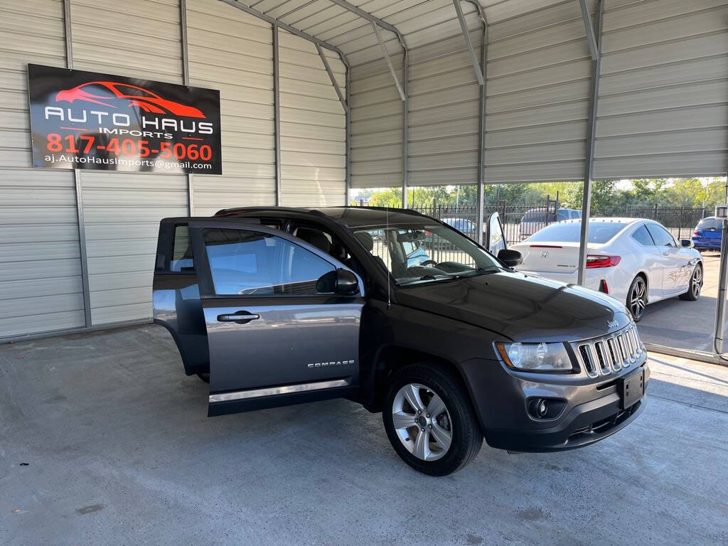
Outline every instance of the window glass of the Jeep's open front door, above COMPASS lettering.
{"type": "Polygon", "coordinates": [[[334,266],[285,239],[242,229],[205,229],[203,236],[215,294],[310,296],[333,290],[331,283],[317,282],[334,266]]]}

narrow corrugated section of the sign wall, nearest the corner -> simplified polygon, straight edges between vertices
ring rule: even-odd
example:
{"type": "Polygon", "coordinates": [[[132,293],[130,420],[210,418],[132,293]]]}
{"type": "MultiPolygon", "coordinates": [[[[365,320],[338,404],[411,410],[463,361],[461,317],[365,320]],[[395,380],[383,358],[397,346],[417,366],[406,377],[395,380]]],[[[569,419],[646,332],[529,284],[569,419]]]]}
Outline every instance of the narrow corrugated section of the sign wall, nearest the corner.
{"type": "MultiPolygon", "coordinates": [[[[284,206],[344,205],[346,113],[310,41],[279,33],[281,199],[284,206]]],[[[346,94],[346,67],[323,50],[346,94]]]]}

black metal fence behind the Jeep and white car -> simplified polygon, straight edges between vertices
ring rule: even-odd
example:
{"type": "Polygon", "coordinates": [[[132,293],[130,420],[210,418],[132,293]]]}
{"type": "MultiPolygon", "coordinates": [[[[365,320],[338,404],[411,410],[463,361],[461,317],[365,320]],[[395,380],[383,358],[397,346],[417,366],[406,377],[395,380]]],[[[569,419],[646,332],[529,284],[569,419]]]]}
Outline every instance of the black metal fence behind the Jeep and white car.
{"type": "MultiPolygon", "coordinates": [[[[509,245],[529,237],[543,229],[550,223],[561,219],[561,216],[574,213],[565,212],[563,205],[557,199],[547,197],[539,203],[511,204],[505,200],[485,203],[483,206],[483,217],[488,218],[491,213],[497,212],[503,224],[505,237],[509,245]]],[[[475,206],[417,206],[414,207],[419,213],[438,218],[438,220],[458,229],[473,240],[478,239],[477,207],[475,206]]],[[[658,205],[625,207],[602,207],[592,213],[592,218],[648,218],[657,221],[665,226],[676,239],[689,239],[695,226],[702,218],[709,215],[704,208],[691,207],[660,207],[658,205]]]]}

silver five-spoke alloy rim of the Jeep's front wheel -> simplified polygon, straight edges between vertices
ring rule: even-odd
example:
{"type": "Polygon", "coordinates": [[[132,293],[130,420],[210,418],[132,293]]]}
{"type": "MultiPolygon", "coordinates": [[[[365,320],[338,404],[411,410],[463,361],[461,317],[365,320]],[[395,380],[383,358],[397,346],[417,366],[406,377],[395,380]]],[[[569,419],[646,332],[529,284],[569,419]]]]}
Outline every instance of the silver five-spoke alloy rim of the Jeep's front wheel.
{"type": "Polygon", "coordinates": [[[443,457],[452,442],[450,413],[430,387],[408,383],[392,402],[392,423],[403,446],[423,461],[443,457]]]}

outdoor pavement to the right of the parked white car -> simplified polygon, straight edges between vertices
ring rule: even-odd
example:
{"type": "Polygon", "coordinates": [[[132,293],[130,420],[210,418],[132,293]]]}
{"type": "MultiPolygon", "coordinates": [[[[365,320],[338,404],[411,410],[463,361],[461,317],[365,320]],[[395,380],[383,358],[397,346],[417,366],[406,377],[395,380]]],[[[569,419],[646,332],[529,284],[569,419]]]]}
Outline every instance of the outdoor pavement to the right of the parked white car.
{"type": "Polygon", "coordinates": [[[720,261],[720,253],[703,253],[705,282],[697,301],[670,298],[647,306],[639,323],[642,341],[713,352],[720,261]]]}

